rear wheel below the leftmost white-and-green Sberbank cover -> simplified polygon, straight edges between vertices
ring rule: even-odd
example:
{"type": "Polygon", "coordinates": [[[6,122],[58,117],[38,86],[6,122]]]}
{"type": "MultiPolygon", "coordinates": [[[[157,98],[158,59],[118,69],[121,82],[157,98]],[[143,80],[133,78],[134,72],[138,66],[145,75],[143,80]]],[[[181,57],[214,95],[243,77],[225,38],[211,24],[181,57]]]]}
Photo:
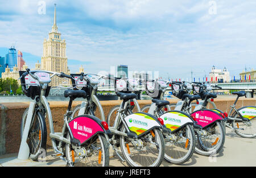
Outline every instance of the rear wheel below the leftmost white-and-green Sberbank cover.
{"type": "MultiPolygon", "coordinates": [[[[121,131],[126,132],[124,126],[121,131]]],[[[121,136],[119,143],[129,166],[158,167],[164,158],[164,139],[159,129],[153,129],[139,139],[121,136]]]]}

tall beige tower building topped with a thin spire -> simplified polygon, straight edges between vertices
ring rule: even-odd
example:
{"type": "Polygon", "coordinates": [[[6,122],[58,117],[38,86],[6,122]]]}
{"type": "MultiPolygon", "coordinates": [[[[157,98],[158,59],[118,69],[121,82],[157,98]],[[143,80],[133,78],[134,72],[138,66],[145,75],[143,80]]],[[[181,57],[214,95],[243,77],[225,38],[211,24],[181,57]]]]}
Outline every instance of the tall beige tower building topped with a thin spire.
{"type": "MultiPolygon", "coordinates": [[[[41,68],[45,71],[68,73],[68,59],[66,56],[66,42],[61,39],[61,33],[56,24],[56,4],[54,11],[54,21],[48,40],[44,39],[43,56],[41,58],[41,68]]],[[[67,84],[66,78],[53,77],[51,86],[67,84]]]]}

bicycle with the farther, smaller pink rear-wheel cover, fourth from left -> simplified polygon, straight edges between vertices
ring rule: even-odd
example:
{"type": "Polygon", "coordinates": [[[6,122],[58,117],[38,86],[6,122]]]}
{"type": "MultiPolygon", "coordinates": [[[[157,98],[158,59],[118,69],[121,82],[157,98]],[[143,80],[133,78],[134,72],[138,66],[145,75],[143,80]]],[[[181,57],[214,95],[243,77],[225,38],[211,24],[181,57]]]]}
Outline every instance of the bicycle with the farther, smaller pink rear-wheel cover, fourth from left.
{"type": "MultiPolygon", "coordinates": [[[[191,82],[166,82],[171,85],[172,94],[181,99],[181,101],[177,102],[175,110],[184,111],[191,115],[196,122],[197,127],[194,125],[197,139],[195,152],[204,156],[218,153],[225,143],[225,132],[222,125],[225,115],[208,109],[194,110],[192,112],[192,101],[196,100],[196,102],[199,103],[198,100],[200,99],[200,96],[189,94],[192,93],[193,84],[191,82]]],[[[215,96],[214,94],[207,93],[205,94],[205,97],[212,98],[215,96]]]]}

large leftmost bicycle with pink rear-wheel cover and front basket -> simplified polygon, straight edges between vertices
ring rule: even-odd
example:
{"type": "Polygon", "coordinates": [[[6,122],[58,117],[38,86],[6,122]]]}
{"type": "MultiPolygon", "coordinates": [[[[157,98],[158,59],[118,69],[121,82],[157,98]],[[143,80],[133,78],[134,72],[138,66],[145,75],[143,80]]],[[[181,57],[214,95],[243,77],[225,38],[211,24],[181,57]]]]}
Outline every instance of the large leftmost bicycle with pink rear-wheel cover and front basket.
{"type": "MultiPolygon", "coordinates": [[[[49,121],[49,137],[51,138],[53,158],[64,160],[68,166],[108,166],[109,149],[108,124],[92,115],[71,117],[72,101],[77,97],[86,97],[86,92],[65,90],[64,97],[69,97],[67,112],[64,115],[64,125],[61,133],[55,133],[51,109],[47,96],[51,86],[48,86],[53,76],[72,78],[63,72],[50,71],[19,71],[22,90],[31,97],[28,109],[24,111],[20,123],[22,143],[20,150],[28,149],[29,158],[38,160],[41,152],[46,153],[46,116],[49,121]],[[52,74],[52,75],[51,75],[52,74]],[[50,76],[51,75],[51,76],[50,76]],[[24,139],[23,139],[24,138],[24,139]]],[[[22,156],[23,152],[19,151],[22,156]]]]}

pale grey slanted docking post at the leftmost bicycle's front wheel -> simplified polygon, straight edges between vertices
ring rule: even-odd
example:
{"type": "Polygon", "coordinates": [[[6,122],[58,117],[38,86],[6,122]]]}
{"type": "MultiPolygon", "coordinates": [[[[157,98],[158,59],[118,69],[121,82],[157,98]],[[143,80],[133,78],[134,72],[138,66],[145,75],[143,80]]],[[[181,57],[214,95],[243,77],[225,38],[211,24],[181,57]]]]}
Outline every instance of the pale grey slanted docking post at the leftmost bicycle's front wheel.
{"type": "Polygon", "coordinates": [[[30,148],[28,147],[28,144],[27,144],[27,136],[28,136],[28,131],[30,130],[30,125],[33,117],[33,112],[35,109],[35,104],[36,102],[31,102],[30,107],[28,109],[27,119],[24,126],[22,140],[20,142],[19,154],[18,154],[18,159],[21,159],[21,160],[28,159],[30,155],[30,148]]]}

